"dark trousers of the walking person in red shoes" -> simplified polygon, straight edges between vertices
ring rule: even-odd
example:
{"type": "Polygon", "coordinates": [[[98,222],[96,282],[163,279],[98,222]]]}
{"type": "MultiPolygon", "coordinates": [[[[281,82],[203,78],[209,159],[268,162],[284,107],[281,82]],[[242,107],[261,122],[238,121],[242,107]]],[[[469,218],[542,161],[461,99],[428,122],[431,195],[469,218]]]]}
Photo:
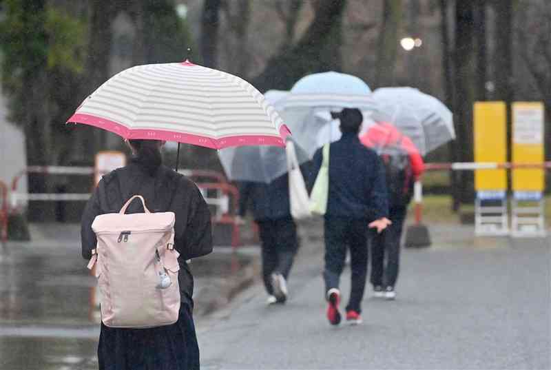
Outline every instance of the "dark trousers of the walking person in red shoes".
{"type": "Polygon", "coordinates": [[[367,232],[366,219],[329,217],[325,218],[325,291],[339,287],[344,269],[346,249],[351,256],[351,291],[346,311],[362,311],[362,298],[367,278],[367,232]]]}

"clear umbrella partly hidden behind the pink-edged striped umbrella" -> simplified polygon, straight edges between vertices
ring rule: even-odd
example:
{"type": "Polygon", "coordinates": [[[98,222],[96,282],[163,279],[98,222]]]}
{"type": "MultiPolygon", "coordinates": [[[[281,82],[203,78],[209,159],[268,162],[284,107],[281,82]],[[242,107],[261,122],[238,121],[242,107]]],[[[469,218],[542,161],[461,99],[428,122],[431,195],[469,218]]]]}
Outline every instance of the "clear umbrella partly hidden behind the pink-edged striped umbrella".
{"type": "MultiPolygon", "coordinates": [[[[276,103],[287,94],[289,92],[269,90],[264,96],[270,103],[276,103]]],[[[299,163],[308,161],[308,155],[299,145],[295,145],[295,150],[299,163]]],[[[231,181],[271,183],[275,178],[287,173],[287,154],[281,147],[228,147],[219,150],[218,157],[231,181]]]]}

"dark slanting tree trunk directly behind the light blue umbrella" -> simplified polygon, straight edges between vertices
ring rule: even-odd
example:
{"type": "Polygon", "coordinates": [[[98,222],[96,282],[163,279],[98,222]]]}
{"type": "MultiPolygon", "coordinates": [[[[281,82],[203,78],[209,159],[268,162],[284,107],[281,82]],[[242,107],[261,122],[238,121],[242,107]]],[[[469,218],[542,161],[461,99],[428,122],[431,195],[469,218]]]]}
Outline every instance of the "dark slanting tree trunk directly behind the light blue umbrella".
{"type": "Polygon", "coordinates": [[[315,17],[304,36],[292,48],[273,56],[253,79],[258,90],[289,90],[302,76],[340,70],[340,19],[346,0],[319,1],[315,17]]]}

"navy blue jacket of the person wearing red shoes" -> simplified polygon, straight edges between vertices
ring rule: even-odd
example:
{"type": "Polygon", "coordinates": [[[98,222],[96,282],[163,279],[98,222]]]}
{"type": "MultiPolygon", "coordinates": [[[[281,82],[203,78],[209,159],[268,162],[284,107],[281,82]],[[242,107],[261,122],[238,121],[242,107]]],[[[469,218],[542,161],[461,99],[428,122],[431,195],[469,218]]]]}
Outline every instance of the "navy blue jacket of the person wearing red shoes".
{"type": "MultiPolygon", "coordinates": [[[[314,154],[309,188],[322,165],[322,148],[314,154]]],[[[326,217],[388,217],[384,165],[377,153],[360,143],[356,134],[345,133],[329,147],[329,200],[326,217]]]]}

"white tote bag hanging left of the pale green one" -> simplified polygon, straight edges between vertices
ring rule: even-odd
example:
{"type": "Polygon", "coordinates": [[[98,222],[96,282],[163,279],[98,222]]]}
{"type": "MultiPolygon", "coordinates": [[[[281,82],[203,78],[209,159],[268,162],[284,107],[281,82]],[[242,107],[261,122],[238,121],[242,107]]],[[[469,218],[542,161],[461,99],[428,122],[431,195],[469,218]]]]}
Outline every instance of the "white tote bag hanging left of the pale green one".
{"type": "Polygon", "coordinates": [[[311,216],[309,209],[309,196],[304,184],[304,177],[300,172],[295,144],[287,142],[287,169],[289,170],[289,203],[291,203],[291,216],[295,220],[302,220],[311,216]]]}

